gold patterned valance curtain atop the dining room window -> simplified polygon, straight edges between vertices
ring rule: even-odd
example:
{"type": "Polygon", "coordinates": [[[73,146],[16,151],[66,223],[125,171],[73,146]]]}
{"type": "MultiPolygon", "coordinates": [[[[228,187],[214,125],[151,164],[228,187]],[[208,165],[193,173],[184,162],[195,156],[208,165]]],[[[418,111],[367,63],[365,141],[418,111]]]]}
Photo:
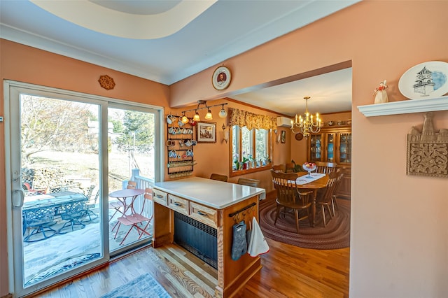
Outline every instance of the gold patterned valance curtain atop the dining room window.
{"type": "Polygon", "coordinates": [[[229,125],[247,127],[248,130],[256,129],[276,129],[277,122],[275,117],[267,115],[258,115],[238,108],[229,108],[229,125]]]}

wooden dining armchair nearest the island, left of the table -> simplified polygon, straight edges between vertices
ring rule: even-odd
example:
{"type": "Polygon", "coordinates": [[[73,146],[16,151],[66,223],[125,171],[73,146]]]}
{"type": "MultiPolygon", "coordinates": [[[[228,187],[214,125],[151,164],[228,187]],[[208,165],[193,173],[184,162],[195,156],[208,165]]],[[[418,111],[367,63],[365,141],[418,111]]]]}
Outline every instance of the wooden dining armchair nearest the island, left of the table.
{"type": "Polygon", "coordinates": [[[276,217],[274,225],[279,218],[281,208],[286,211],[293,209],[295,214],[295,229],[299,233],[299,222],[308,218],[309,224],[312,225],[311,216],[309,216],[309,208],[313,192],[299,192],[295,185],[297,174],[295,173],[281,173],[271,170],[272,181],[276,190],[276,217]],[[305,211],[304,215],[300,215],[300,211],[305,211]]]}

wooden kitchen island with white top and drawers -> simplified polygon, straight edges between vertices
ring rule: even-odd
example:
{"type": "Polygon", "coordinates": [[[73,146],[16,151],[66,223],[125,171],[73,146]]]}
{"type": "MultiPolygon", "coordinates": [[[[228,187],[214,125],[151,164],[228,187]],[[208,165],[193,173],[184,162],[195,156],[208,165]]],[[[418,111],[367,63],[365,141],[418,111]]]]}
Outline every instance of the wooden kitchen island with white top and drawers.
{"type": "Polygon", "coordinates": [[[175,213],[216,229],[218,285],[216,297],[232,297],[261,269],[260,257],[231,257],[233,225],[258,220],[258,201],[265,190],[207,178],[155,183],[153,247],[174,242],[175,213]]]}

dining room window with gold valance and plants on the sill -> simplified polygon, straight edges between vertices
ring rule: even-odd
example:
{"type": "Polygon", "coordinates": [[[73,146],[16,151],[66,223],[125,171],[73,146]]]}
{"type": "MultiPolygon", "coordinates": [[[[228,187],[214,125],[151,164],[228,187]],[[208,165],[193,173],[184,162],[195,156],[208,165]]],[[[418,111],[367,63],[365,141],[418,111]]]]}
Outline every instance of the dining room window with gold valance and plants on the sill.
{"type": "Polygon", "coordinates": [[[231,176],[269,169],[276,118],[230,108],[231,176]]]}

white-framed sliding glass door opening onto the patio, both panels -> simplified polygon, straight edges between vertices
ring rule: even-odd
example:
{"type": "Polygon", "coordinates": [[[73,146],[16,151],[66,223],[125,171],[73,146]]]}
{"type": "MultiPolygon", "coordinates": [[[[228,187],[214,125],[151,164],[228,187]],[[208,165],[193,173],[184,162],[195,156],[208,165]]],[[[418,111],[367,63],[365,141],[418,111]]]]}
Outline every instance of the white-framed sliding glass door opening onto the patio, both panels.
{"type": "Polygon", "coordinates": [[[130,236],[114,244],[108,194],[133,173],[144,187],[153,182],[160,111],[10,81],[5,90],[15,297],[104,263],[111,251],[150,241],[130,236]]]}

